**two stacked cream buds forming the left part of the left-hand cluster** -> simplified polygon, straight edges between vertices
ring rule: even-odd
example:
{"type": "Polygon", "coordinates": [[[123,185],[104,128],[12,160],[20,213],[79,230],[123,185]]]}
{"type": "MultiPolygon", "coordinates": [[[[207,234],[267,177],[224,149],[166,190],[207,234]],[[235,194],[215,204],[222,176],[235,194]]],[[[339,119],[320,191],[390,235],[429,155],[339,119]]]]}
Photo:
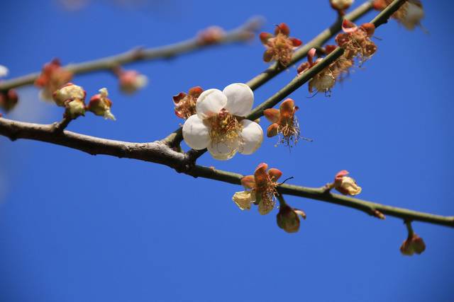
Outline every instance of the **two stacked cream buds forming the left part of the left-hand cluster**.
{"type": "Polygon", "coordinates": [[[65,117],[75,119],[80,115],[85,115],[85,98],[87,92],[81,86],[67,83],[62,88],[52,93],[55,104],[65,107],[65,117]]]}

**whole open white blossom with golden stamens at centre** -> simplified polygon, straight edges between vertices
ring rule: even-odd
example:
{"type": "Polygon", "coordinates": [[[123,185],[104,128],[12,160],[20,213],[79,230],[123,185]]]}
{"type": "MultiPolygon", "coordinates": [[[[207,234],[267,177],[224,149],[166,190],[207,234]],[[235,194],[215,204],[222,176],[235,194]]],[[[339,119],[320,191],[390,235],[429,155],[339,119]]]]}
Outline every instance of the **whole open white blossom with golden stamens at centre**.
{"type": "Polygon", "coordinates": [[[263,131],[258,123],[245,119],[253,103],[254,93],[243,83],[202,92],[196,100],[196,114],[183,124],[184,141],[192,149],[208,149],[221,161],[237,152],[254,153],[262,144],[263,131]]]}

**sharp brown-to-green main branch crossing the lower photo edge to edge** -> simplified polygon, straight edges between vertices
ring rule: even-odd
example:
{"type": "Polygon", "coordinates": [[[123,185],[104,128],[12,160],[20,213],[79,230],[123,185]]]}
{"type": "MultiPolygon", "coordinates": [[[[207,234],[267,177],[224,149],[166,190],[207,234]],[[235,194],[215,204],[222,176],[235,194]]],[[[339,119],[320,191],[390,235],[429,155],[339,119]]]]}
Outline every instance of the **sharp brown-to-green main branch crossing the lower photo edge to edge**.
{"type": "MultiPolygon", "coordinates": [[[[174,151],[163,141],[151,143],[131,143],[127,141],[114,141],[111,139],[100,139],[88,135],[77,134],[64,130],[55,132],[53,124],[32,124],[27,122],[16,122],[0,117],[0,135],[16,139],[33,139],[35,141],[45,141],[51,144],[67,146],[72,149],[84,151],[97,155],[104,154],[116,156],[118,158],[133,158],[139,161],[150,163],[160,163],[194,177],[209,178],[240,185],[243,175],[231,173],[223,170],[216,170],[201,165],[192,165],[191,153],[179,153],[174,151]]],[[[325,187],[301,187],[297,185],[282,184],[277,187],[280,194],[287,194],[297,197],[316,199],[322,202],[330,202],[343,207],[350,207],[364,211],[369,215],[374,215],[375,211],[394,216],[406,221],[424,221],[439,224],[442,226],[454,227],[454,216],[439,216],[434,214],[391,207],[375,202],[347,197],[340,194],[332,194],[326,191],[325,187]]]]}

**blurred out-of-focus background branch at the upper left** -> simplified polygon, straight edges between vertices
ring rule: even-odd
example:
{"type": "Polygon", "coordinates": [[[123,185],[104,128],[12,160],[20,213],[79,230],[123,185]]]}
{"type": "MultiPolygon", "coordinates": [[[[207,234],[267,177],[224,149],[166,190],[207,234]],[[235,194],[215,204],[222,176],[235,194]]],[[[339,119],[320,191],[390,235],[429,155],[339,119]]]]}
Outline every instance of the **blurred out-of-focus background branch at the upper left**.
{"type": "MultiPolygon", "coordinates": [[[[251,33],[258,30],[262,25],[261,18],[252,18],[250,21],[241,25],[239,28],[228,31],[225,33],[220,40],[207,44],[201,43],[198,37],[194,37],[189,40],[178,42],[172,45],[155,47],[155,48],[136,48],[128,52],[116,54],[111,57],[105,57],[96,59],[88,62],[82,62],[78,64],[68,64],[64,66],[65,69],[72,71],[74,74],[87,74],[93,71],[110,71],[116,66],[123,64],[129,64],[138,61],[149,61],[153,59],[170,59],[180,54],[186,54],[188,52],[194,52],[195,50],[201,50],[206,47],[213,45],[223,45],[233,42],[241,42],[249,40],[251,33]]],[[[17,88],[20,86],[31,85],[38,78],[40,72],[33,74],[27,74],[26,76],[19,76],[15,79],[9,79],[0,82],[0,91],[7,91],[11,88],[17,88]]]]}

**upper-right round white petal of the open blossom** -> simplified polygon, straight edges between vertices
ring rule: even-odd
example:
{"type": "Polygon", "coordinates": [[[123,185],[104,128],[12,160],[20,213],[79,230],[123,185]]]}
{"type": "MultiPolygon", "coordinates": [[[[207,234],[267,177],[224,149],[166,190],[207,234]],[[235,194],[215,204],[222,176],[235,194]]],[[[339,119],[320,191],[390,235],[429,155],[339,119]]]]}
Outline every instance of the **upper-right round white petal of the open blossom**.
{"type": "Polygon", "coordinates": [[[224,88],[222,92],[227,97],[226,109],[232,115],[245,117],[253,108],[254,93],[248,85],[233,83],[224,88]]]}

